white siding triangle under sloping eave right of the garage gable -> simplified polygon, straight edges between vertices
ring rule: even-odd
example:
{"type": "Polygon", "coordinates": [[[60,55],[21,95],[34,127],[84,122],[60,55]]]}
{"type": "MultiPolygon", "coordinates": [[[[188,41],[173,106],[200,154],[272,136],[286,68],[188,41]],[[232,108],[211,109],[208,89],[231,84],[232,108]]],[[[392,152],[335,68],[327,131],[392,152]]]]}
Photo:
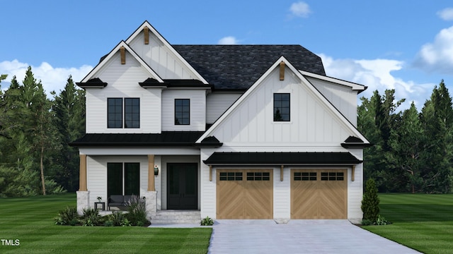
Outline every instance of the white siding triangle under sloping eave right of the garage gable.
{"type": "Polygon", "coordinates": [[[306,77],[316,89],[335,106],[354,126],[357,126],[357,92],[351,87],[326,80],[306,77]]]}

